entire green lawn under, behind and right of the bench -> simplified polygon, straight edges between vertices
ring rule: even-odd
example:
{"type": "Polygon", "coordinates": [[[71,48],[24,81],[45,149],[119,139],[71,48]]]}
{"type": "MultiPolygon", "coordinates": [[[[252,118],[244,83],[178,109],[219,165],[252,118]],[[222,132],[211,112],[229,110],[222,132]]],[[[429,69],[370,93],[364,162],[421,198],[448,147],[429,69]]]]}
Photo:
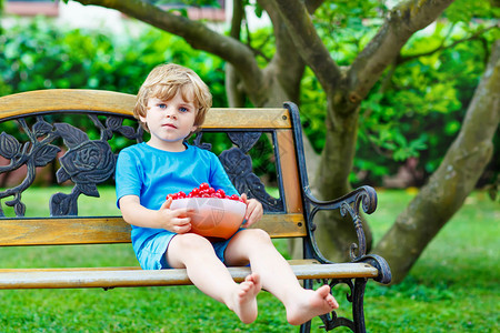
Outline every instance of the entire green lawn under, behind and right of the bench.
{"type": "MultiPolygon", "coordinates": [[[[106,208],[87,199],[88,212],[117,214],[112,189],[100,190],[106,208]]],[[[376,240],[390,228],[411,193],[379,190],[371,218],[376,240]]],[[[44,189],[23,196],[47,206],[44,189]]],[[[100,201],[102,202],[102,201],[100,201]]],[[[30,209],[30,206],[29,206],[30,209]]],[[[40,211],[28,209],[28,214],[40,211]]],[[[48,214],[48,209],[44,209],[48,214]]],[[[473,193],[426,249],[403,283],[366,293],[369,332],[499,332],[498,202],[473,193]]],[[[277,242],[281,251],[286,243],[277,242]]],[[[136,265],[130,244],[92,246],[2,248],[2,268],[136,265]],[[62,251],[61,251],[62,250],[62,251]]],[[[341,310],[346,289],[336,292],[341,310]]],[[[259,294],[259,319],[240,324],[223,305],[192,286],[102,290],[0,291],[1,332],[297,332],[286,323],[282,305],[259,294]]],[[[318,319],[313,326],[320,325],[318,319]]],[[[313,329],[313,332],[321,332],[313,329]]],[[[338,330],[336,332],[349,332],[338,330]]]]}

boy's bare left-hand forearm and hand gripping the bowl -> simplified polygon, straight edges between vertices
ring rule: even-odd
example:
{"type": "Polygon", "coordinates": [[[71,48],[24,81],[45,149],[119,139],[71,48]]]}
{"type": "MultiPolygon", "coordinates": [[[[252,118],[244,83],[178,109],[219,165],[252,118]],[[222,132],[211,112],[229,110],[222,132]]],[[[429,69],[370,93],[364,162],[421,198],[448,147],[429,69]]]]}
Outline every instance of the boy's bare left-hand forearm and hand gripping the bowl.
{"type": "Polygon", "coordinates": [[[188,209],[171,210],[172,200],[167,200],[158,211],[140,204],[139,196],[124,195],[120,198],[120,210],[123,220],[132,225],[152,229],[164,229],[176,233],[191,230],[191,219],[188,209]]]}

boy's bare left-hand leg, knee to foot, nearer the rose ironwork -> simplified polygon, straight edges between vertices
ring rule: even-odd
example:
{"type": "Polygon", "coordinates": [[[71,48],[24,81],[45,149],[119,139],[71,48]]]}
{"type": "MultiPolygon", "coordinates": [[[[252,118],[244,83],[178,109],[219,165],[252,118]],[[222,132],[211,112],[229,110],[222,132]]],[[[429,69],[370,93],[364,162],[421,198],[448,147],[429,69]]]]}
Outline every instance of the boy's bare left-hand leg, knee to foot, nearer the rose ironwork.
{"type": "Polygon", "coordinates": [[[224,303],[243,323],[257,319],[260,281],[249,275],[237,284],[207,239],[193,233],[178,234],[170,241],[166,259],[171,268],[187,269],[189,279],[200,291],[224,303]]]}

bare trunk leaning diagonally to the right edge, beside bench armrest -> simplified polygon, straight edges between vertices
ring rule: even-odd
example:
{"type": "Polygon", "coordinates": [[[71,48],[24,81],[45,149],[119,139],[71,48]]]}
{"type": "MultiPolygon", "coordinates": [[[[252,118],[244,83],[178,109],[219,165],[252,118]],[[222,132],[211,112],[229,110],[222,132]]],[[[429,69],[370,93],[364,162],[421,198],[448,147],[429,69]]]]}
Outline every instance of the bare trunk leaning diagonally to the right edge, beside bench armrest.
{"type": "Polygon", "coordinates": [[[491,159],[492,138],[500,121],[499,91],[500,41],[497,41],[459,135],[429,183],[373,251],[388,261],[392,283],[402,281],[433,236],[460,209],[491,159]]]}

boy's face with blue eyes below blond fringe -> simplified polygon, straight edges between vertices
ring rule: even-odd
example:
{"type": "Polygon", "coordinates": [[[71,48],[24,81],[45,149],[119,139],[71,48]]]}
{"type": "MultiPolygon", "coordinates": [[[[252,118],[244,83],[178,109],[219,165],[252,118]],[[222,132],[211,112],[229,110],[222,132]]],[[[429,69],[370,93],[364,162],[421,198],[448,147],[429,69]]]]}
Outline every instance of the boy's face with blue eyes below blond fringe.
{"type": "Polygon", "coordinates": [[[193,102],[186,102],[180,93],[171,100],[148,99],[148,112],[140,117],[148,124],[151,140],[148,144],[167,151],[183,151],[183,140],[193,131],[197,109],[193,102]]]}

